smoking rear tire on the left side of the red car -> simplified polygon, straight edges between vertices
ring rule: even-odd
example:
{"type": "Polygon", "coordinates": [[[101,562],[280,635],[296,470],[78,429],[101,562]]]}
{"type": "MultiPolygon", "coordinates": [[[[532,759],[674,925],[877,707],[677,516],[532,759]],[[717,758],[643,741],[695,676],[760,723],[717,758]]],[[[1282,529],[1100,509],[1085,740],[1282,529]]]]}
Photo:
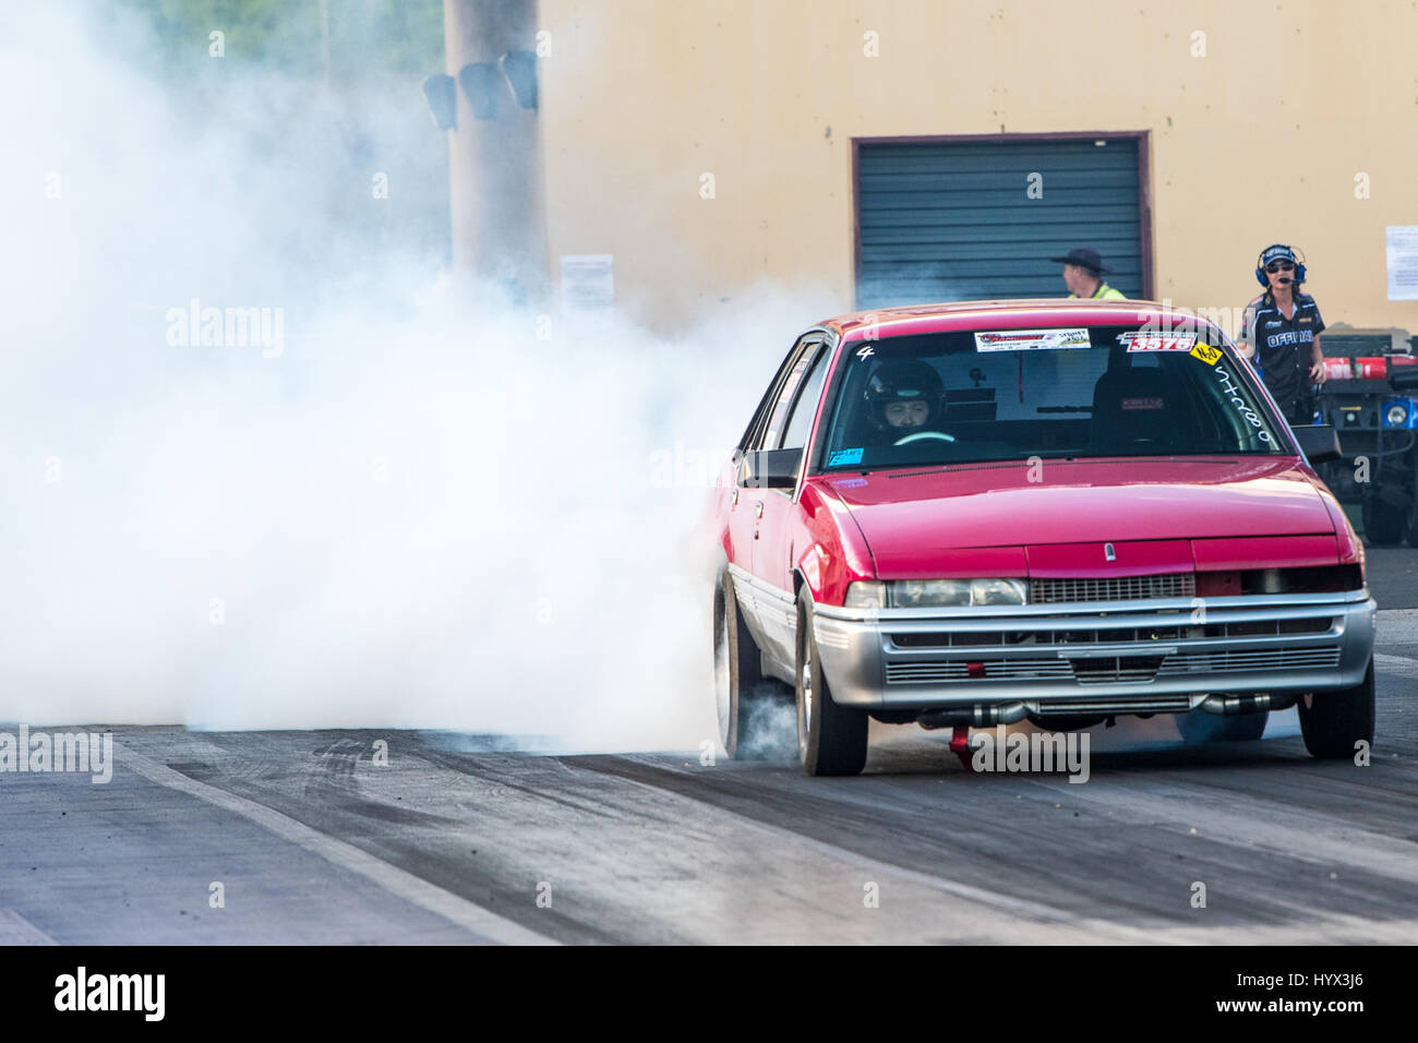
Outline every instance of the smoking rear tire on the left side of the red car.
{"type": "Polygon", "coordinates": [[[719,742],[733,761],[786,759],[791,751],[791,690],[763,675],[763,657],[739,614],[725,566],[713,595],[715,702],[719,742]]]}

